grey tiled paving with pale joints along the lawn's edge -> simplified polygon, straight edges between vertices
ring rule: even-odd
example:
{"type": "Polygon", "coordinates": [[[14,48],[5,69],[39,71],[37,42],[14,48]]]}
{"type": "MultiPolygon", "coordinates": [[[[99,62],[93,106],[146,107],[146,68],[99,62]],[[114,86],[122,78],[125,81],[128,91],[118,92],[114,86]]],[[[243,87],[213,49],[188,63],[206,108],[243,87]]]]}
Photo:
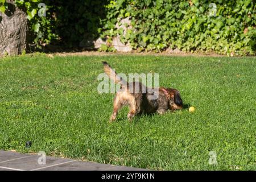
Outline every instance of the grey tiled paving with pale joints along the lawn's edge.
{"type": "Polygon", "coordinates": [[[113,166],[50,156],[19,154],[0,150],[0,171],[137,171],[146,170],[125,166],[113,166]],[[44,164],[45,162],[45,164],[44,164]]]}

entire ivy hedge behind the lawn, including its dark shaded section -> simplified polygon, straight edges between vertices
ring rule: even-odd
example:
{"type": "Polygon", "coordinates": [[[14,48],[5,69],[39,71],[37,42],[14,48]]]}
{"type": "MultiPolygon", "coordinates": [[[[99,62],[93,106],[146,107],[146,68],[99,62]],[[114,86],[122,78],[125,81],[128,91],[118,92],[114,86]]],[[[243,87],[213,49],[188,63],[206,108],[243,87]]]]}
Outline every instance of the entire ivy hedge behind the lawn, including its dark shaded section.
{"type": "MultiPolygon", "coordinates": [[[[185,52],[216,52],[225,55],[255,55],[256,7],[254,0],[16,0],[26,9],[32,42],[37,46],[59,43],[77,47],[82,39],[121,35],[137,51],[162,52],[178,48],[185,52]],[[47,16],[38,17],[38,3],[47,5],[47,16]],[[102,3],[104,2],[104,3],[102,3]],[[132,30],[123,36],[115,24],[130,17],[132,30]]],[[[7,8],[0,0],[0,11],[7,8]]]]}

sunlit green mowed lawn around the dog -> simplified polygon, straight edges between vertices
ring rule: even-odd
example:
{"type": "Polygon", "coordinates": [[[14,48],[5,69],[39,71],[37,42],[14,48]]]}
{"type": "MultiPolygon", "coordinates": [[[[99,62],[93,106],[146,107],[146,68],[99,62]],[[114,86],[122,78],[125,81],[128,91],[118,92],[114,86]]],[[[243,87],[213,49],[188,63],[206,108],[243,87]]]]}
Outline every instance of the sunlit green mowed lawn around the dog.
{"type": "Polygon", "coordinates": [[[160,170],[256,169],[255,57],[27,55],[1,58],[0,73],[2,150],[160,170]],[[129,122],[125,107],[109,123],[114,94],[97,92],[102,60],[118,73],[159,73],[185,109],[129,122]]]}

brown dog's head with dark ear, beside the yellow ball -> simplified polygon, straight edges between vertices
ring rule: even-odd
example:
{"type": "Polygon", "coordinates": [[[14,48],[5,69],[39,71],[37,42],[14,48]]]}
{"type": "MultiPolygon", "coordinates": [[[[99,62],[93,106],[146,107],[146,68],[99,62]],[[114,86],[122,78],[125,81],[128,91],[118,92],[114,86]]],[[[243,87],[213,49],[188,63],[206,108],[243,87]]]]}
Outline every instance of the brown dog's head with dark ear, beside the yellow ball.
{"type": "Polygon", "coordinates": [[[169,100],[169,106],[171,110],[177,110],[177,109],[182,109],[183,107],[183,102],[180,97],[180,92],[179,90],[176,89],[162,89],[164,94],[166,95],[167,99],[169,100]]]}

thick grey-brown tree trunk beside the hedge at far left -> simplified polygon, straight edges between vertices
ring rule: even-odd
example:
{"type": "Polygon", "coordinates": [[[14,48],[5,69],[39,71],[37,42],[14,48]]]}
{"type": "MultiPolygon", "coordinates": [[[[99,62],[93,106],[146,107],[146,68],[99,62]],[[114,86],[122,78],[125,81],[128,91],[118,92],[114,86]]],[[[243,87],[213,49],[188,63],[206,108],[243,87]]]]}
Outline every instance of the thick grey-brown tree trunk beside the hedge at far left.
{"type": "Polygon", "coordinates": [[[8,9],[0,13],[0,56],[18,55],[26,49],[27,17],[26,13],[7,0],[8,9]]]}

